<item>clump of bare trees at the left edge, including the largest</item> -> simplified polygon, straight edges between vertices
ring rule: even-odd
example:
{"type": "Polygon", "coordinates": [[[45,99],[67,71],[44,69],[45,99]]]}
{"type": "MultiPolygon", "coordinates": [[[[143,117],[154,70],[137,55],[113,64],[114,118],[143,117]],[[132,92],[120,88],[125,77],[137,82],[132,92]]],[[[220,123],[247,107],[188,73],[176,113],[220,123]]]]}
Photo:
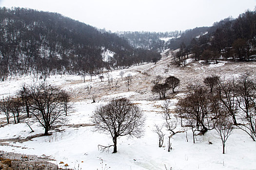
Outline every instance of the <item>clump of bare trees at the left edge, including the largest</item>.
{"type": "Polygon", "coordinates": [[[65,116],[71,108],[70,95],[59,88],[41,83],[39,85],[23,85],[14,97],[0,101],[0,111],[5,113],[7,123],[10,123],[10,113],[14,122],[20,123],[20,115],[35,118],[44,128],[44,135],[57,124],[65,123],[65,116]]]}

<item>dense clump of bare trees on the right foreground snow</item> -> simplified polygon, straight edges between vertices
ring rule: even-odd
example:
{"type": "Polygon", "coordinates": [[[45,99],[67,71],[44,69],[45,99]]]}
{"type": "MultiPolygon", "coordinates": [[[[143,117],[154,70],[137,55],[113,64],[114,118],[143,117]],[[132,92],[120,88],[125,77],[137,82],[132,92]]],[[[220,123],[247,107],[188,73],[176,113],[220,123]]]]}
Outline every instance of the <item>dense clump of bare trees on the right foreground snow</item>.
{"type": "MultiPolygon", "coordinates": [[[[256,82],[249,73],[237,78],[212,75],[204,79],[205,85],[191,85],[188,95],[177,102],[181,126],[204,135],[216,130],[223,144],[234,126],[256,140],[256,82]]],[[[168,112],[167,112],[168,113],[168,112]]]]}

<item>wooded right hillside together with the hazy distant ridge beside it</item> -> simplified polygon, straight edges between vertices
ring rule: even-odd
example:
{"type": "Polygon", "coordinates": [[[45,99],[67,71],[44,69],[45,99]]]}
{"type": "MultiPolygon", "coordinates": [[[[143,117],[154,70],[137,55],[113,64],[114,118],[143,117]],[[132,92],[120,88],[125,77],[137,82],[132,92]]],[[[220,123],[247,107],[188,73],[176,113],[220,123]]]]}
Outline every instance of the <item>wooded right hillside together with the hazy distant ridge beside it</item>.
{"type": "Polygon", "coordinates": [[[179,59],[193,54],[196,60],[222,57],[249,61],[256,54],[256,11],[246,11],[237,18],[225,18],[211,27],[197,27],[183,32],[117,34],[126,38],[133,47],[155,51],[180,49],[176,56],[179,59]]]}

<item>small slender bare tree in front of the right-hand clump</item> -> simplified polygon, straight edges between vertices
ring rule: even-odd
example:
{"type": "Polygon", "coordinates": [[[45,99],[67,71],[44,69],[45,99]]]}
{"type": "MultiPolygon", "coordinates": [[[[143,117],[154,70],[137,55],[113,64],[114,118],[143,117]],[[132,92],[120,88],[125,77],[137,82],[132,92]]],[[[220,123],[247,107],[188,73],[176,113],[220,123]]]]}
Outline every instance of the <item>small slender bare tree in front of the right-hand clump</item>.
{"type": "Polygon", "coordinates": [[[216,132],[218,138],[222,141],[222,153],[225,153],[225,142],[227,141],[228,137],[231,135],[233,130],[233,122],[228,117],[220,117],[216,122],[216,132]]]}

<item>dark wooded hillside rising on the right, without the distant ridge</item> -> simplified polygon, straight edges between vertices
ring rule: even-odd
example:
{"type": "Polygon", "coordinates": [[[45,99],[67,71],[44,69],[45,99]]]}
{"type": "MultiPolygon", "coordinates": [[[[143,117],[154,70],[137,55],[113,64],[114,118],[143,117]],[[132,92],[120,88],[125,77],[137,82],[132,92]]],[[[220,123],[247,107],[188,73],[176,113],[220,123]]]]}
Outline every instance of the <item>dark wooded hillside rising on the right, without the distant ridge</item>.
{"type": "Polygon", "coordinates": [[[178,49],[177,58],[193,54],[195,60],[232,58],[250,61],[256,55],[256,11],[246,11],[237,18],[228,17],[213,24],[187,30],[169,41],[170,49],[178,49]],[[198,34],[200,33],[200,34],[198,34]]]}

